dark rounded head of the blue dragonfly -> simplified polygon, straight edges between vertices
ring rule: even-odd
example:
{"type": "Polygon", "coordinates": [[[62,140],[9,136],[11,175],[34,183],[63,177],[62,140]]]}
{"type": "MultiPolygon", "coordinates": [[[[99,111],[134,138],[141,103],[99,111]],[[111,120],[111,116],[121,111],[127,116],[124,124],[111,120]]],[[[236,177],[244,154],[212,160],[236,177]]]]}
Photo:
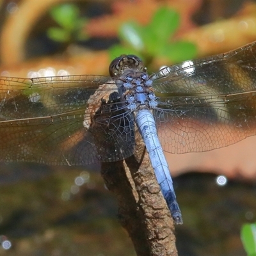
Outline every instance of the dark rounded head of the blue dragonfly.
{"type": "Polygon", "coordinates": [[[109,65],[109,74],[112,77],[119,77],[124,73],[124,70],[132,69],[135,71],[146,72],[147,68],[140,58],[135,55],[121,55],[115,58],[109,65]]]}

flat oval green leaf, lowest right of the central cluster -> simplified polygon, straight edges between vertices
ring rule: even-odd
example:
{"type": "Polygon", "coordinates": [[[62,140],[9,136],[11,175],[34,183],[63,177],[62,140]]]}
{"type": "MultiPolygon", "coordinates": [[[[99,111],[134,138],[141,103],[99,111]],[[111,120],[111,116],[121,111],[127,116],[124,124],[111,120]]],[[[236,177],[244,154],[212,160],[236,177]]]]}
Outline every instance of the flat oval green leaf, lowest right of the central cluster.
{"type": "Polygon", "coordinates": [[[174,63],[193,59],[196,57],[196,53],[195,44],[182,41],[164,45],[162,49],[159,49],[159,55],[167,57],[174,63]]]}

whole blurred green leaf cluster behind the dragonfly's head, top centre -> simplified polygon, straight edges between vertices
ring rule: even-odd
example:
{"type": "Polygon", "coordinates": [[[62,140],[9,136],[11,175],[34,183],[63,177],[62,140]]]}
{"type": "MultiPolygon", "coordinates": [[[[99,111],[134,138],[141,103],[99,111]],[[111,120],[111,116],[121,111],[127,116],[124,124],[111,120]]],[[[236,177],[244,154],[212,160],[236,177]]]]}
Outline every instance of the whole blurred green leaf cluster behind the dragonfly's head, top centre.
{"type": "Polygon", "coordinates": [[[170,38],[180,25],[179,13],[168,8],[160,8],[147,26],[127,22],[120,27],[120,45],[109,49],[111,59],[120,54],[131,53],[143,58],[147,65],[157,57],[172,62],[195,58],[196,46],[191,42],[175,41],[170,38]]]}

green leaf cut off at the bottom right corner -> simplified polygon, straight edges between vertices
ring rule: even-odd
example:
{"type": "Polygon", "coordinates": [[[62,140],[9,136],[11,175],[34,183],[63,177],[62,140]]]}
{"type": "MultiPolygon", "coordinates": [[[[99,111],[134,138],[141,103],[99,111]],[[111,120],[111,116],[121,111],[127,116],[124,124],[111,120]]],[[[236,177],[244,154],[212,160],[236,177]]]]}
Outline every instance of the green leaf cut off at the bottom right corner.
{"type": "Polygon", "coordinates": [[[244,224],[241,230],[241,240],[248,255],[256,254],[256,223],[244,224]]]}

